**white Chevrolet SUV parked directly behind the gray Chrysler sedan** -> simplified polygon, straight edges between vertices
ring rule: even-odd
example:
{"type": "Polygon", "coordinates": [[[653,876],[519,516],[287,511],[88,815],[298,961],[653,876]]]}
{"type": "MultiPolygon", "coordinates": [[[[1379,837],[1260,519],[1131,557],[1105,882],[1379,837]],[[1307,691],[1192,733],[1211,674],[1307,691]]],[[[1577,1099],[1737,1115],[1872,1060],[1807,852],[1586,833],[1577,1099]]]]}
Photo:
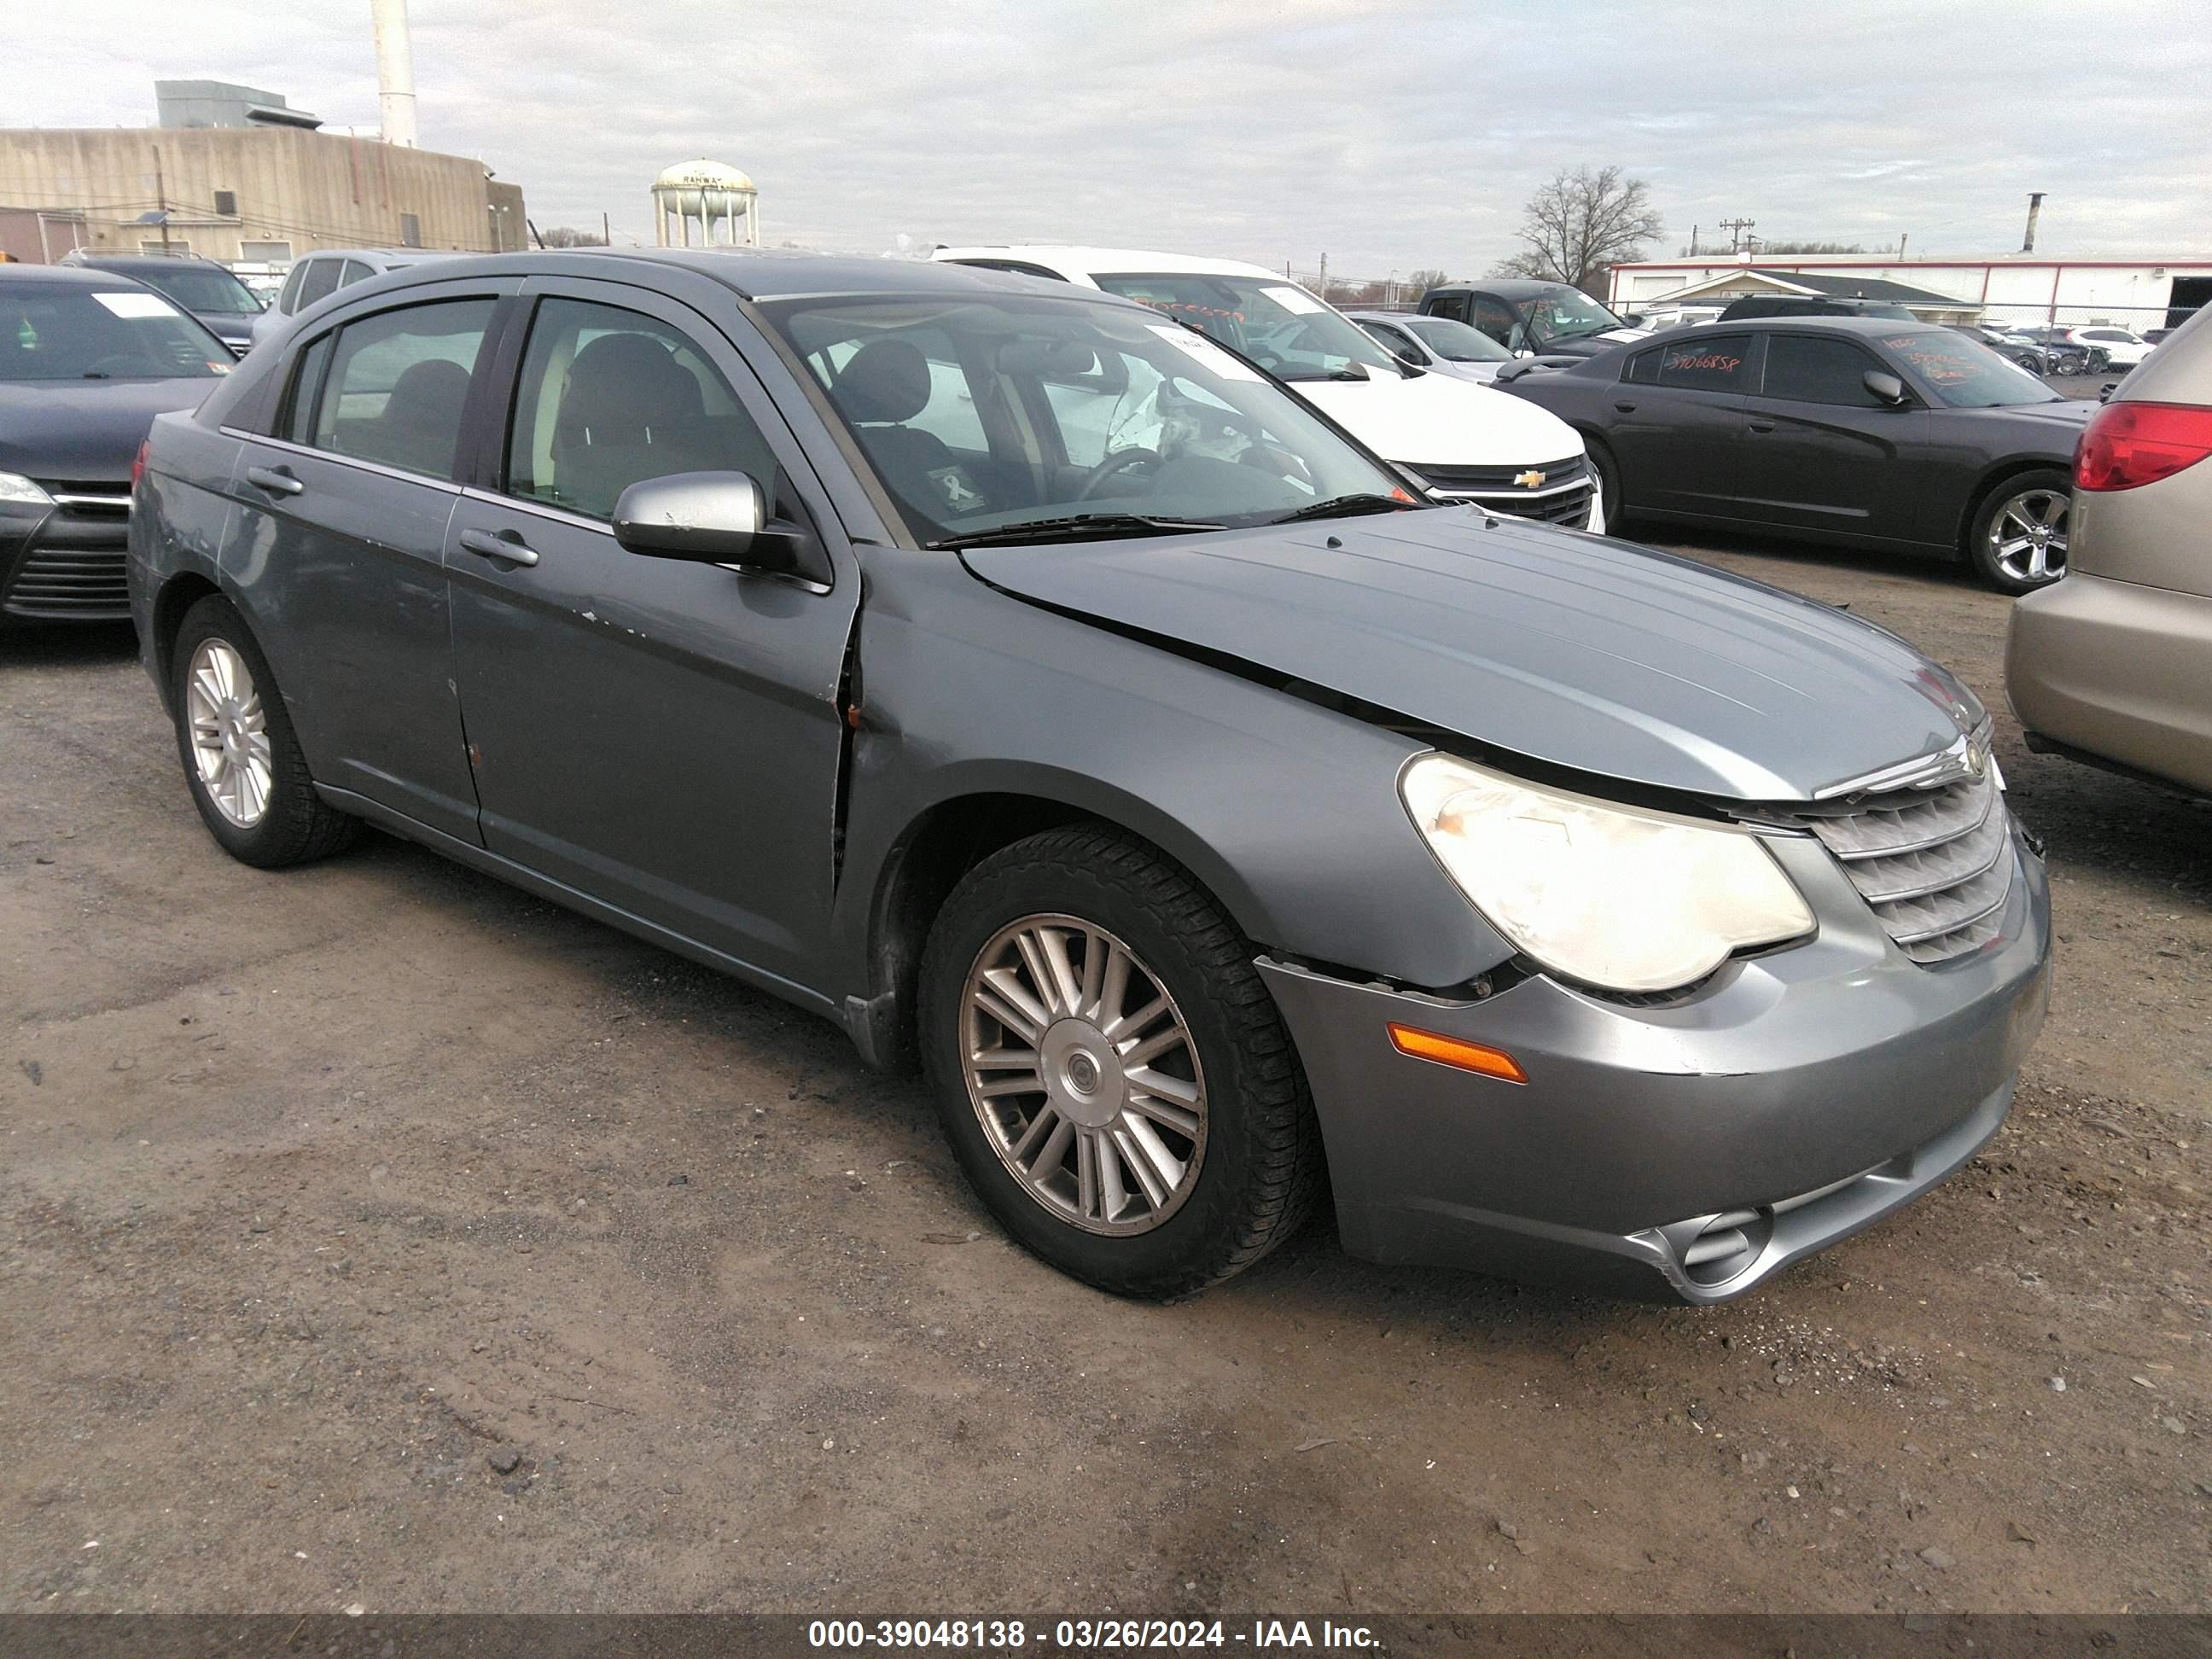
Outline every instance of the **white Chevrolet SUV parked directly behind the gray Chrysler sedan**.
{"type": "Polygon", "coordinates": [[[1135,299],[1285,380],[1433,500],[1606,529],[1579,431],[1522,398],[1400,363],[1265,265],[1064,246],[938,248],[933,259],[1135,299]]]}

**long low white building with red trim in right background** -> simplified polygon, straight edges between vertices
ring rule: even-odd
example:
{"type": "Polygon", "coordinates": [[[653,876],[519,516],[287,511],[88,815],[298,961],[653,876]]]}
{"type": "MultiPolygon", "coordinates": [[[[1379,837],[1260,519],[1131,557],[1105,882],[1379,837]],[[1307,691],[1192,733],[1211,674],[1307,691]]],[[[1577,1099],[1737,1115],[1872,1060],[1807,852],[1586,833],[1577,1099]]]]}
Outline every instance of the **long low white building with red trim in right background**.
{"type": "Polygon", "coordinates": [[[2212,259],[1880,259],[1708,254],[1613,268],[1615,310],[1697,305],[1739,294],[1893,301],[1929,323],[2013,323],[2135,332],[2177,327],[2212,301],[2212,259]]]}

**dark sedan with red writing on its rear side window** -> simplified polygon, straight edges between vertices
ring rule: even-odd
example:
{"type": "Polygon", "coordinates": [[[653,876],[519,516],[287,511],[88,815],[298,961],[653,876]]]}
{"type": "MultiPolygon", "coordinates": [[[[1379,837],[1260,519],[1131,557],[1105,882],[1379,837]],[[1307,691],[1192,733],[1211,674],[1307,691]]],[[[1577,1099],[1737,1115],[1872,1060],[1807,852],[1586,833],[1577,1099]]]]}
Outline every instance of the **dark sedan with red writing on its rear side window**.
{"type": "Polygon", "coordinates": [[[1964,557],[2004,593],[2066,575],[2073,451],[2097,409],[1953,330],[1860,316],[1668,330],[1498,387],[1582,431],[1606,524],[1964,557]]]}

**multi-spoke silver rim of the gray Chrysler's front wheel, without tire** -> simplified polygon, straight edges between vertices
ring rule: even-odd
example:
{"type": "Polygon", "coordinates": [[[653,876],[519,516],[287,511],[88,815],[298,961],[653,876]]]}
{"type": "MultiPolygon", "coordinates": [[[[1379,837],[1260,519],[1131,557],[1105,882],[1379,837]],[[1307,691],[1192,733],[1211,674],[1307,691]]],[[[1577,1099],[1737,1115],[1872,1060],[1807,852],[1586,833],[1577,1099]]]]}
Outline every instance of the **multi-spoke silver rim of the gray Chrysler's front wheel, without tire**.
{"type": "Polygon", "coordinates": [[[969,1104],[1000,1164],[1084,1232],[1148,1232],[1197,1186],[1206,1073],[1168,989],[1073,916],[1024,916],[962,993],[969,1104]]]}

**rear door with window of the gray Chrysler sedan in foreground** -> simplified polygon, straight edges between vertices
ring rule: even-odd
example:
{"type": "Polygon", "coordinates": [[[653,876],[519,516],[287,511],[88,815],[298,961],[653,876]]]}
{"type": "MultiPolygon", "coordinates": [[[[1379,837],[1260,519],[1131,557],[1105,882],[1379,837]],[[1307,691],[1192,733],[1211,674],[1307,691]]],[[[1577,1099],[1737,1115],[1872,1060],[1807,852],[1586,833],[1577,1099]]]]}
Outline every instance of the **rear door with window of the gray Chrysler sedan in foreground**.
{"type": "Polygon", "coordinates": [[[248,436],[221,564],[316,781],[476,841],[453,692],[445,535],[478,363],[515,279],[434,283],[292,352],[248,436]]]}

